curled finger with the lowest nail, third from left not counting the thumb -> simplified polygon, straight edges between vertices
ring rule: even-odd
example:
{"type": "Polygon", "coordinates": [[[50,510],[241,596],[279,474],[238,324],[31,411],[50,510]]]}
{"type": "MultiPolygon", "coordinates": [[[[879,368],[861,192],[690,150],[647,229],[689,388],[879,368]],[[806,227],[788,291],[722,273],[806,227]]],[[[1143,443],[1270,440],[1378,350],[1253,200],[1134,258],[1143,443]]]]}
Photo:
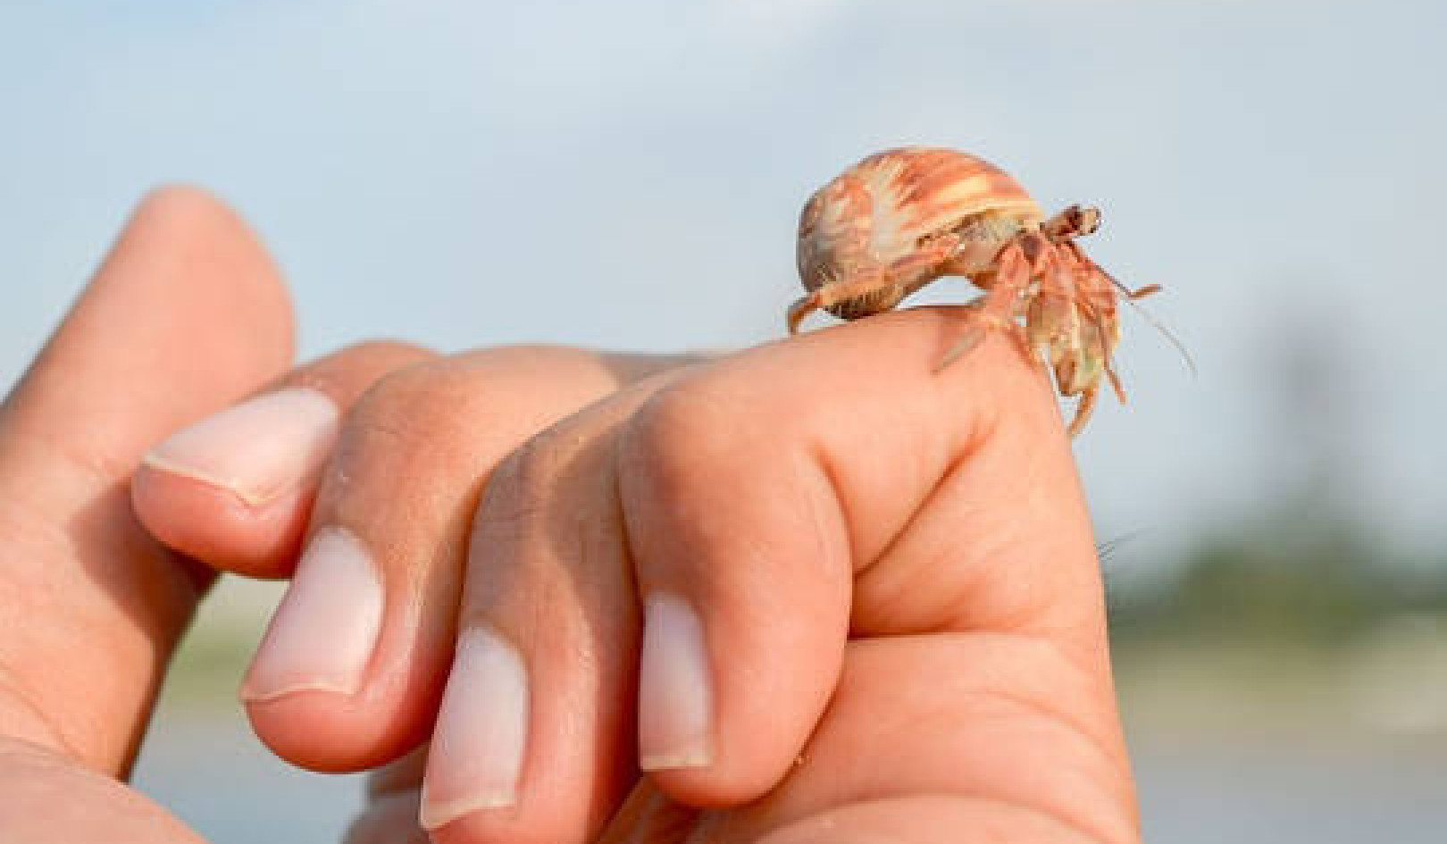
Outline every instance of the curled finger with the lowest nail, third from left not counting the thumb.
{"type": "Polygon", "coordinates": [[[590,841],[637,779],[641,618],[615,450],[660,374],[532,437],[478,510],[423,788],[437,841],[590,841]]]}

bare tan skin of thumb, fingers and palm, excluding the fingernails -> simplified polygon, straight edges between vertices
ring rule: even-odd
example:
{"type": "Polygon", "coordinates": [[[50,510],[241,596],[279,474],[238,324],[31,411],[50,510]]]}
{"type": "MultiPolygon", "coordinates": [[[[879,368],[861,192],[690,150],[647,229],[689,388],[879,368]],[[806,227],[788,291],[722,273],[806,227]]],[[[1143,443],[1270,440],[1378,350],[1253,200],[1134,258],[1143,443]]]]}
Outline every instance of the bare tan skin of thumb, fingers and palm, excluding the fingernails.
{"type": "Polygon", "coordinates": [[[478,624],[512,636],[538,705],[518,805],[443,844],[609,821],[616,841],[1139,840],[1051,388],[994,336],[936,375],[967,318],[709,360],[382,343],[284,372],[289,313],[250,235],[194,191],[152,197],[0,415],[0,612],[25,612],[0,644],[0,838],[198,840],[123,785],[210,578],[139,512],[252,575],[288,575],[328,526],[372,550],[386,612],[362,686],[247,705],[291,761],[383,766],[352,844],[427,840],[415,748],[478,624]],[[295,384],[344,413],[295,489],[250,507],[148,465],[132,508],[149,446],[295,384]],[[713,759],[638,786],[631,654],[655,592],[702,618],[713,759]],[[559,621],[527,636],[540,612],[559,621]]]}

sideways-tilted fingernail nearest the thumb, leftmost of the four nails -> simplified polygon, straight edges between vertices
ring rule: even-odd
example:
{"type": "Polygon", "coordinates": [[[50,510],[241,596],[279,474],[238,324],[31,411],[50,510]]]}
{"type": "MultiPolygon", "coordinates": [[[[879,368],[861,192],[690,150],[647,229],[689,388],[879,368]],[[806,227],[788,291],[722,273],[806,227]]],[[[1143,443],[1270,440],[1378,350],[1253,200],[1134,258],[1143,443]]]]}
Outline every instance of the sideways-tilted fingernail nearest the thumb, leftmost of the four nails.
{"type": "Polygon", "coordinates": [[[255,507],[321,466],[337,439],[337,405],[324,392],[278,389],[172,434],[143,462],[229,489],[255,507]]]}

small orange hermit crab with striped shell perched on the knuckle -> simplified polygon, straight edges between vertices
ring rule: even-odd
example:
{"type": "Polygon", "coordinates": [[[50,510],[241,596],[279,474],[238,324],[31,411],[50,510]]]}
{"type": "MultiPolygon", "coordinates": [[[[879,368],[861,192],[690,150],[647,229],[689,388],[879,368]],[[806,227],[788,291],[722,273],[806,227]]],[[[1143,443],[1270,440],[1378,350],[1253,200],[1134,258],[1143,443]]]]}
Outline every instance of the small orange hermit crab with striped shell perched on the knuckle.
{"type": "Polygon", "coordinates": [[[790,305],[789,332],[815,310],[857,320],[936,278],[962,275],[985,294],[972,303],[977,321],[945,363],[974,347],[985,329],[1010,332],[1049,365],[1061,395],[1079,397],[1074,437],[1095,407],[1101,376],[1126,401],[1111,362],[1117,298],[1160,290],[1127,290],[1081,252],[1075,239],[1098,226],[1100,211],[1081,206],[1045,219],[1019,182],[964,152],[874,153],[805,204],[799,277],[809,292],[790,305]]]}

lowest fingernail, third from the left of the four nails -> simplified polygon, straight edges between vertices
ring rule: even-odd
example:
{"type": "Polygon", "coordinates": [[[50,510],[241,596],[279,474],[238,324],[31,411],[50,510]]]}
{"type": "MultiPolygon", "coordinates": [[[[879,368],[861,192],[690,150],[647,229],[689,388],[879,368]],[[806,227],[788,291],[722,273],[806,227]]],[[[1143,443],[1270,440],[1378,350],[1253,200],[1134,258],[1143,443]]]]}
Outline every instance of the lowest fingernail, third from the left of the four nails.
{"type": "Polygon", "coordinates": [[[459,637],[423,782],[424,830],[512,806],[528,735],[528,673],[517,649],[485,627],[459,637]]]}

